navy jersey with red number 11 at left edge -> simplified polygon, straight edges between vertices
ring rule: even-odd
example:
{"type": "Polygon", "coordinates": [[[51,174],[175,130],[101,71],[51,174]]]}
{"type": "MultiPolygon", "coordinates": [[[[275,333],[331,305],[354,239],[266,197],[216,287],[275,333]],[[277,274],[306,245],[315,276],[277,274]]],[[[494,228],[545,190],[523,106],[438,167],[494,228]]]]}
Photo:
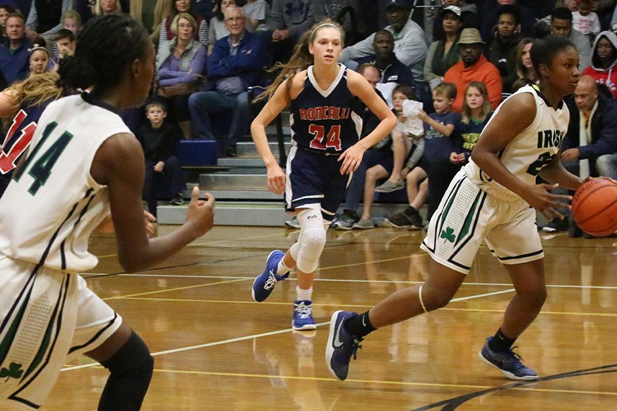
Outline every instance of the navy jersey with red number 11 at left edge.
{"type": "Polygon", "coordinates": [[[6,136],[1,140],[0,146],[0,197],[8,186],[13,170],[21,154],[26,151],[32,140],[36,123],[40,119],[47,105],[53,101],[49,99],[40,105],[22,107],[13,118],[11,127],[6,136]]]}

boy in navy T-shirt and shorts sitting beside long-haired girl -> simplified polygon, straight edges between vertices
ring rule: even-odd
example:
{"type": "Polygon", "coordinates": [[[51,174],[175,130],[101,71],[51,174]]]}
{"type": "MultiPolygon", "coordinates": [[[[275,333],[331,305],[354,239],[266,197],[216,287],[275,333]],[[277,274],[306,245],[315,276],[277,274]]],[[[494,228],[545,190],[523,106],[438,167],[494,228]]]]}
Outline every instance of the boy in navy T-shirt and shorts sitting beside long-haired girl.
{"type": "Polygon", "coordinates": [[[452,103],[457,97],[457,88],[452,83],[441,83],[433,90],[433,108],[435,112],[420,112],[424,121],[424,155],[411,171],[403,169],[401,175],[407,180],[407,198],[409,207],[404,211],[385,219],[386,223],[396,228],[422,229],[422,217],[418,210],[428,198],[427,171],[432,162],[447,160],[452,152],[449,138],[454,132],[457,114],[451,111],[452,103]]]}

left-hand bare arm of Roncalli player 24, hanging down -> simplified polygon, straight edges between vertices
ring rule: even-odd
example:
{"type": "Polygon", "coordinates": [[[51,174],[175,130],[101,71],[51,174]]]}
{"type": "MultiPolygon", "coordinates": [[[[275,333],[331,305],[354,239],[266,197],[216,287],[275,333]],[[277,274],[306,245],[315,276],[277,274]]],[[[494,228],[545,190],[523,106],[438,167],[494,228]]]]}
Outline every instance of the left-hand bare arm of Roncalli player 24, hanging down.
{"type": "Polygon", "coordinates": [[[251,123],[251,136],[253,142],[255,143],[257,152],[261,155],[261,158],[263,158],[263,162],[267,169],[268,189],[272,192],[276,192],[276,194],[285,192],[285,173],[283,173],[278,165],[278,161],[274,158],[274,154],[272,154],[265,133],[265,127],[276,119],[276,116],[278,116],[278,114],[287,107],[287,104],[289,104],[286,96],[287,82],[292,82],[292,99],[297,97],[300,90],[302,90],[302,84],[304,84],[302,78],[304,77],[301,77],[300,74],[301,73],[298,73],[291,77],[291,79],[286,79],[282,82],[274,92],[274,95],[270,97],[264,108],[257,114],[251,123]]]}

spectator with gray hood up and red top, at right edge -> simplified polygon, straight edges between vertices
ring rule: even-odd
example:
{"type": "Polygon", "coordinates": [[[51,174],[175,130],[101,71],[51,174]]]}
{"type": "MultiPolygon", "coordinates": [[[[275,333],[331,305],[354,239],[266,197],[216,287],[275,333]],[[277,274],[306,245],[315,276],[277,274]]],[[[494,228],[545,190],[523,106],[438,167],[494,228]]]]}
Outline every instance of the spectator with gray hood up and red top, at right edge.
{"type": "Polygon", "coordinates": [[[617,35],[610,31],[600,32],[594,40],[592,65],[583,70],[583,75],[590,75],[596,83],[604,84],[613,98],[617,98],[617,35]]]}

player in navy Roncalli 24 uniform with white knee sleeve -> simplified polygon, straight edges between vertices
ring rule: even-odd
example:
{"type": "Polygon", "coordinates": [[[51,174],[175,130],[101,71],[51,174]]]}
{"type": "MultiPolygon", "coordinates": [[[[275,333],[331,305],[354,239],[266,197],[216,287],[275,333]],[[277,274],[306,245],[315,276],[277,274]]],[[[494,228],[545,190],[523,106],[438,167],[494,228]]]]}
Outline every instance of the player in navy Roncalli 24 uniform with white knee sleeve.
{"type": "Polygon", "coordinates": [[[264,301],[276,283],[293,268],[298,273],[293,329],[315,329],[312,310],[313,278],[326,243],[326,229],[335,215],[364,152],[387,136],[396,117],[359,73],[337,62],[343,49],[343,29],[330,20],[314,25],[302,36],[295,52],[274,84],[269,101],[251,125],[258,153],[267,167],[268,188],[285,192],[285,208],[300,223],[298,241],[286,253],[272,251],[265,271],[252,286],[255,301],[264,301]],[[359,98],[380,119],[359,140],[362,121],[356,113],[359,98]],[[287,175],[269,149],[265,127],[291,104],[293,147],[287,175]]]}

